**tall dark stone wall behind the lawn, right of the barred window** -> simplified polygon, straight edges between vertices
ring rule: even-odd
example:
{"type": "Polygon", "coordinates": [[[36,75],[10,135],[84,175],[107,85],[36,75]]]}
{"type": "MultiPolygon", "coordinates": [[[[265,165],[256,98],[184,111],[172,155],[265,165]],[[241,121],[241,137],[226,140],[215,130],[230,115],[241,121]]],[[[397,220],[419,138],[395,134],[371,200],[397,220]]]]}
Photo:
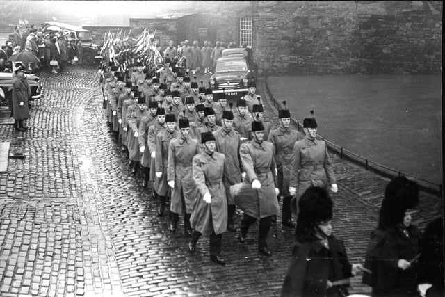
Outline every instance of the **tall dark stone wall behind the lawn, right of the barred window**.
{"type": "Polygon", "coordinates": [[[441,71],[442,3],[259,1],[254,12],[254,56],[268,72],[441,71]]]}

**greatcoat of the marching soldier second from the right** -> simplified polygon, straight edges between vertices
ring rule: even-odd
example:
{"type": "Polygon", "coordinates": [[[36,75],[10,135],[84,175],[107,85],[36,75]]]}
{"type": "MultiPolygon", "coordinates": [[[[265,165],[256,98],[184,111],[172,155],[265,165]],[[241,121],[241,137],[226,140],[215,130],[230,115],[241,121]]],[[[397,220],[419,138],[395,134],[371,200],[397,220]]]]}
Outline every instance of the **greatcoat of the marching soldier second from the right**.
{"type": "Polygon", "coordinates": [[[278,188],[280,195],[289,195],[289,178],[293,156],[293,145],[302,138],[296,129],[280,127],[270,132],[268,141],[275,146],[275,162],[278,170],[278,188]]]}

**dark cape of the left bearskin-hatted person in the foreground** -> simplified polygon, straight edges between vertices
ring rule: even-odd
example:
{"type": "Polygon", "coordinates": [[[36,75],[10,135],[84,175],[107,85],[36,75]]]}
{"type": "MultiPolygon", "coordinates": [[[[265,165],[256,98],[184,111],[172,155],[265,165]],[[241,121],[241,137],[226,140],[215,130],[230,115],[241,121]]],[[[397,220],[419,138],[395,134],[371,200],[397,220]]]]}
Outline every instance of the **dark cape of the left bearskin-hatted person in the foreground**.
{"type": "Polygon", "coordinates": [[[327,242],[329,249],[320,241],[296,243],[281,296],[348,296],[346,285],[327,289],[327,280],[335,282],[353,276],[343,241],[329,236],[327,242]]]}

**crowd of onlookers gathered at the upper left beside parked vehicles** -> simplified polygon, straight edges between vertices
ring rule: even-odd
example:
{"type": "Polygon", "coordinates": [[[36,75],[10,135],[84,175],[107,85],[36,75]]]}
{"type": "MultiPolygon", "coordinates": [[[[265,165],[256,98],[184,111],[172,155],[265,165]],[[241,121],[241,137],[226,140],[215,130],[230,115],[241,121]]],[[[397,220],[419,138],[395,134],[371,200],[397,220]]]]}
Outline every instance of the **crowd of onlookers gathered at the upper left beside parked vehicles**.
{"type": "Polygon", "coordinates": [[[26,24],[22,29],[15,26],[14,33],[1,46],[0,71],[13,71],[8,58],[21,51],[30,52],[40,60],[40,63],[29,63],[28,70],[50,67],[51,72],[57,73],[68,63],[77,61],[78,45],[70,38],[70,33],[47,31],[48,26],[41,24],[40,28],[36,28],[34,24],[26,24]]]}

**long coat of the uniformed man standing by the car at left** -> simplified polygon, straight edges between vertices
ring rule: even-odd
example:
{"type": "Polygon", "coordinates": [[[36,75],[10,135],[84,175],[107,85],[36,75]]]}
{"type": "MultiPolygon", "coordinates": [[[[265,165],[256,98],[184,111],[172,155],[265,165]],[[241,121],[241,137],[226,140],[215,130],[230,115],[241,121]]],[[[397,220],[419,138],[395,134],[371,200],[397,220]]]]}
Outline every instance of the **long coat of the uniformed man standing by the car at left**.
{"type": "Polygon", "coordinates": [[[13,118],[14,120],[26,120],[29,118],[28,99],[31,96],[31,89],[29,88],[26,78],[20,78],[14,75],[13,77],[13,118]],[[23,102],[23,106],[20,106],[23,102]]]}

